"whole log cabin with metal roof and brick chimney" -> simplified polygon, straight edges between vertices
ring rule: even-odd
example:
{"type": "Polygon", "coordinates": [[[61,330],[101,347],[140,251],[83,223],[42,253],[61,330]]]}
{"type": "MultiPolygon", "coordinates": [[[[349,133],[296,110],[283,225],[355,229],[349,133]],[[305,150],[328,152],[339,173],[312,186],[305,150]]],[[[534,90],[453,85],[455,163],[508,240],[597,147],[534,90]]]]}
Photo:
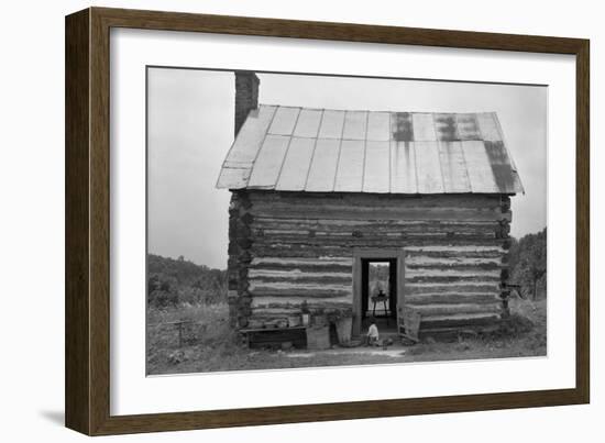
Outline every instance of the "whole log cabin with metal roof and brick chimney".
{"type": "Polygon", "coordinates": [[[428,113],[258,104],[235,73],[235,139],[217,187],[231,191],[229,304],[239,329],[308,309],[372,309],[369,266],[388,265],[387,317],[420,331],[507,313],[510,197],[522,185],[494,112],[428,113]]]}

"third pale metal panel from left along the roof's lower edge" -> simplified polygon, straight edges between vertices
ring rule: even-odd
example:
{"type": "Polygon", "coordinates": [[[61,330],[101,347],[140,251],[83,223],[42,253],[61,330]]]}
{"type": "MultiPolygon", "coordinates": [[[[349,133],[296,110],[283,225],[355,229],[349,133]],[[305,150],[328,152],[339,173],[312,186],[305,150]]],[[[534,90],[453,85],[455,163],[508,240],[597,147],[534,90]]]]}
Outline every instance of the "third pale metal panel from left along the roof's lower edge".
{"type": "Polygon", "coordinates": [[[315,143],[316,139],[292,139],[275,189],[290,191],[305,189],[315,143]]]}

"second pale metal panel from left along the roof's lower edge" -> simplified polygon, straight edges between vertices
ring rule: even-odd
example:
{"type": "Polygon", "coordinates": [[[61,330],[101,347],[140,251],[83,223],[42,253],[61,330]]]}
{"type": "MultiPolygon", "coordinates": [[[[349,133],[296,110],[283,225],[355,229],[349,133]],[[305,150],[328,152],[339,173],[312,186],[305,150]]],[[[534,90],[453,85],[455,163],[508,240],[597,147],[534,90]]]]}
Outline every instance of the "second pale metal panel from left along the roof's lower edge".
{"type": "Polygon", "coordinates": [[[249,188],[275,188],[289,141],[290,137],[284,135],[266,136],[254,162],[249,188]]]}

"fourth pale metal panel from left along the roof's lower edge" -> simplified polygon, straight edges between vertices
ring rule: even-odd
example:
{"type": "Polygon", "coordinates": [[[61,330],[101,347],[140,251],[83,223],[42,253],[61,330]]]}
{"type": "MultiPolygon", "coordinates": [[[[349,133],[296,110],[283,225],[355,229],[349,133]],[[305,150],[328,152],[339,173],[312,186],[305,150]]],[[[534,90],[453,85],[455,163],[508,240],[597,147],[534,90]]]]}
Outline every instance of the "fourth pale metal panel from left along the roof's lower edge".
{"type": "Polygon", "coordinates": [[[340,140],[318,139],[315,147],[306,191],[330,192],[334,189],[340,140]]]}

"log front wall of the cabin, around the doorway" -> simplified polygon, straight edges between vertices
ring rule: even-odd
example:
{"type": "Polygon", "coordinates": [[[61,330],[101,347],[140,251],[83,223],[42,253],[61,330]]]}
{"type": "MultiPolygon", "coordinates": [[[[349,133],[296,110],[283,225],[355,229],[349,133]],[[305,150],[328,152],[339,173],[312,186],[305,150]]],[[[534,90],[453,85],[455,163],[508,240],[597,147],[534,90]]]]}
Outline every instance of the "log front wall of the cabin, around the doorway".
{"type": "Polygon", "coordinates": [[[382,247],[404,248],[404,300],[422,328],[493,322],[510,217],[501,195],[233,191],[232,322],[284,324],[305,300],[315,312],[352,311],[354,251],[382,247]]]}

